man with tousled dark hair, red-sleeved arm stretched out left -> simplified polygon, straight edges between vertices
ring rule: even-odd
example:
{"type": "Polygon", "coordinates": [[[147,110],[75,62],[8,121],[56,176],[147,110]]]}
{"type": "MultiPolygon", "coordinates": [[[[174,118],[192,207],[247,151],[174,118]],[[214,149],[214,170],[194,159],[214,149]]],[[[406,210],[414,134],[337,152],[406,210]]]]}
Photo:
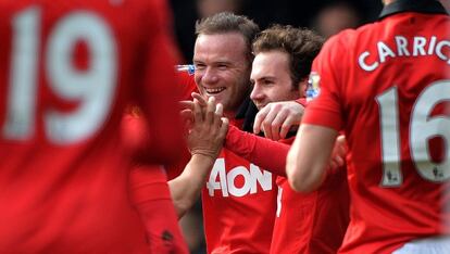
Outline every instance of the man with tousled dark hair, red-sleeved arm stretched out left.
{"type": "MultiPolygon", "coordinates": [[[[259,110],[303,94],[323,38],[308,29],[275,25],[253,42],[255,54],[250,98],[259,110]]],[[[304,99],[303,99],[304,102],[304,99]]],[[[280,115],[279,117],[284,117],[280,115]]],[[[275,142],[230,127],[225,148],[277,175],[278,202],[271,253],[336,253],[348,225],[349,194],[345,168],[334,168],[329,185],[296,193],[286,179],[285,162],[295,132],[275,142]]]]}

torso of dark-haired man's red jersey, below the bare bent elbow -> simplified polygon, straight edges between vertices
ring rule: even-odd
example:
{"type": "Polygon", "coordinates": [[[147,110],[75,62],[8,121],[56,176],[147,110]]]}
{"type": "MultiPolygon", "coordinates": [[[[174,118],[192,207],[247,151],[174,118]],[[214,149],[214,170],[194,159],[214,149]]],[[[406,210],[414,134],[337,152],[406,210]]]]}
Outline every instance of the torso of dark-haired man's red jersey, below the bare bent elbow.
{"type": "MultiPolygon", "coordinates": [[[[292,139],[282,140],[285,143],[292,139]]],[[[267,151],[266,156],[270,156],[267,151]]],[[[286,164],[287,153],[279,157],[286,164]]],[[[258,162],[254,158],[254,162],[258,162]]],[[[346,168],[328,169],[322,186],[298,193],[278,176],[278,207],[271,253],[336,253],[349,224],[350,196],[346,168]]]]}

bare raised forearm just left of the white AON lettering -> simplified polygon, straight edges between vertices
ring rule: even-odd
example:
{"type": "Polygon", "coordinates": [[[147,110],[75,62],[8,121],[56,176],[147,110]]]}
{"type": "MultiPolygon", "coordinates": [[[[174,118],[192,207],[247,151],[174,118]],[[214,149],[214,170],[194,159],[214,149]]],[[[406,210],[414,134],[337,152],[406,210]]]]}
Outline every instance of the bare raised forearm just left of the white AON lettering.
{"type": "Polygon", "coordinates": [[[202,154],[195,154],[186,165],[182,175],[168,181],[171,196],[178,218],[193,205],[200,195],[208,173],[215,160],[202,154]]]}

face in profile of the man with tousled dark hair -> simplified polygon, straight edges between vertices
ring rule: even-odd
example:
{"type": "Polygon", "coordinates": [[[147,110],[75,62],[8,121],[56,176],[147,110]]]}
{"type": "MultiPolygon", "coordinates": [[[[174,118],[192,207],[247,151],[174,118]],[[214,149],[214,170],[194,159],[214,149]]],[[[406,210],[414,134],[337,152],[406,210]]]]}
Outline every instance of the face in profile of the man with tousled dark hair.
{"type": "Polygon", "coordinates": [[[300,97],[289,74],[289,58],[286,52],[268,51],[257,54],[250,76],[253,84],[250,98],[258,110],[270,102],[291,101],[300,97]]]}

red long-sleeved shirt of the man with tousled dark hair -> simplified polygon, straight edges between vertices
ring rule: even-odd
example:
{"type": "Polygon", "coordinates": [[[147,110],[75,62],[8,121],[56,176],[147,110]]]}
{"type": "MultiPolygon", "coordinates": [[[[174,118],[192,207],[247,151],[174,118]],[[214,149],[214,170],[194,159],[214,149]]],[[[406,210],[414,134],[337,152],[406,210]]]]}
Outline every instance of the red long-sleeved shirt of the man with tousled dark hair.
{"type": "Polygon", "coordinates": [[[346,169],[329,170],[321,188],[312,193],[293,191],[285,169],[292,141],[276,142],[230,126],[225,148],[278,175],[271,253],[336,253],[349,223],[346,169]]]}

